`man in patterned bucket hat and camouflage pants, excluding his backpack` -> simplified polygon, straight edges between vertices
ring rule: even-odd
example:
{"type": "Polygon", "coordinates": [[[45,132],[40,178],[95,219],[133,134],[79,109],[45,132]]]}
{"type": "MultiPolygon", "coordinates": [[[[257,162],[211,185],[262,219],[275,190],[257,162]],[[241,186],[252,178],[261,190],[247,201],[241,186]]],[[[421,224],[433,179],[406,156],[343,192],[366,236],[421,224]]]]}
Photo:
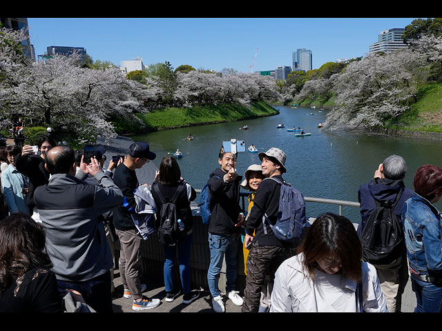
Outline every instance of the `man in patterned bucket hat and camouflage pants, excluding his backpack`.
{"type": "MultiPolygon", "coordinates": [[[[270,148],[258,154],[262,174],[283,182],[285,169],[285,152],[279,148],[270,148]]],[[[263,180],[258,186],[253,207],[250,210],[246,225],[245,245],[249,247],[247,257],[246,288],[242,312],[258,312],[262,285],[271,283],[282,261],[290,257],[290,245],[281,243],[273,234],[270,226],[263,227],[262,217],[267,214],[274,225],[279,209],[280,184],[273,180],[263,180]],[[253,237],[253,232],[256,233],[253,237]],[[267,278],[267,279],[266,279],[267,278]]]]}

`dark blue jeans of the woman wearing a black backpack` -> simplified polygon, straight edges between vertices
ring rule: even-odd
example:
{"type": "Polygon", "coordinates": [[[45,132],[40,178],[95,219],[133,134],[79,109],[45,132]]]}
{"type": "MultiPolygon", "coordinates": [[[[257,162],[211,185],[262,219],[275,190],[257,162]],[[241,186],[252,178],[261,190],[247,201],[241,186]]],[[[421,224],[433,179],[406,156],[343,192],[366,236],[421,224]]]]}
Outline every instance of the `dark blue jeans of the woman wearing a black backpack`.
{"type": "Polygon", "coordinates": [[[180,263],[180,279],[183,293],[191,292],[191,247],[192,234],[188,234],[181,243],[175,246],[163,245],[164,247],[164,289],[166,292],[173,291],[173,265],[178,248],[178,263],[180,263]]]}

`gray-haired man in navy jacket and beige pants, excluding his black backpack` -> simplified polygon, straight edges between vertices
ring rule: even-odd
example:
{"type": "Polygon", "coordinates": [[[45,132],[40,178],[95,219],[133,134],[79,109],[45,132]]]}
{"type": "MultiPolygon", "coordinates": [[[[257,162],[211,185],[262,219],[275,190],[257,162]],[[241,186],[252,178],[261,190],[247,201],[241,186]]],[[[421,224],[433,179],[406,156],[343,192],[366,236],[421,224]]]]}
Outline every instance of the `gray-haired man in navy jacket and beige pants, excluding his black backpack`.
{"type": "MultiPolygon", "coordinates": [[[[413,191],[410,188],[405,188],[403,183],[406,172],[407,163],[405,160],[398,155],[391,155],[378,166],[374,172],[374,178],[369,183],[361,185],[358,192],[362,218],[357,230],[359,237],[361,237],[369,216],[376,212],[376,201],[378,205],[396,202],[393,211],[401,222],[400,228],[403,231],[403,205],[413,195],[413,191]]],[[[373,263],[378,272],[381,289],[390,312],[401,311],[401,297],[408,280],[405,244],[401,249],[403,252],[396,261],[381,265],[373,263]]]]}

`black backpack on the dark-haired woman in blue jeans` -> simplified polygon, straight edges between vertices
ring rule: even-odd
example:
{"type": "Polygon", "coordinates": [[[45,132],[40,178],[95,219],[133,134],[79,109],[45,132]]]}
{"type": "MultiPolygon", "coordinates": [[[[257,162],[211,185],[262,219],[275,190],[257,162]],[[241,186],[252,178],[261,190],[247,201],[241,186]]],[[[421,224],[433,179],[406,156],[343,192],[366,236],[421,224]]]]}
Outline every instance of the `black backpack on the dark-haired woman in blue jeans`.
{"type": "Polygon", "coordinates": [[[152,188],[161,203],[158,239],[160,239],[164,245],[175,245],[186,235],[186,232],[181,231],[178,225],[175,206],[177,198],[180,197],[180,192],[186,190],[186,184],[178,185],[172,199],[170,197],[164,198],[158,185],[152,185],[152,188]]]}

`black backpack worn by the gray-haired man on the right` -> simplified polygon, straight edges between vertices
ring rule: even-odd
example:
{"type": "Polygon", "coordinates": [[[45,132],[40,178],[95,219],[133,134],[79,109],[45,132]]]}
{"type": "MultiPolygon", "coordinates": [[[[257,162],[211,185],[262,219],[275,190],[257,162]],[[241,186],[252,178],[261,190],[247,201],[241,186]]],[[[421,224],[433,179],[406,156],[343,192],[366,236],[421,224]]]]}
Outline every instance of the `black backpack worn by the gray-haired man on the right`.
{"type": "Polygon", "coordinates": [[[385,265],[394,262],[403,252],[404,234],[394,208],[401,199],[403,189],[393,202],[379,202],[370,214],[361,232],[363,260],[385,265]]]}

